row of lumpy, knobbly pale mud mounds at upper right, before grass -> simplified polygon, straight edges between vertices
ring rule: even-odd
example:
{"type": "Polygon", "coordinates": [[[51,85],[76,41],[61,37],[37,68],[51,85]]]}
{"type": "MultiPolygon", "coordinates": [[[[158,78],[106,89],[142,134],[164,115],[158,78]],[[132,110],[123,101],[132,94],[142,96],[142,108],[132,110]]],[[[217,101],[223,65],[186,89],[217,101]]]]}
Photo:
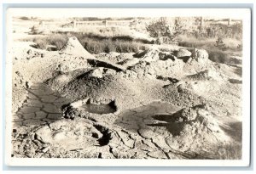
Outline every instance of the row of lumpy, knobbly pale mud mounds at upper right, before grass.
{"type": "Polygon", "coordinates": [[[169,76],[177,79],[210,70],[211,76],[218,77],[216,68],[208,60],[207,51],[194,49],[193,53],[191,53],[187,49],[182,48],[177,51],[177,57],[174,54],[172,52],[160,52],[157,49],[142,53],[139,52],[137,53],[137,57],[141,57],[139,62],[135,65],[128,66],[127,69],[137,72],[139,76],[150,74],[153,76],[169,76]],[[150,54],[151,58],[154,59],[148,59],[147,54],[150,54]],[[154,56],[151,54],[154,54],[154,56]]]}

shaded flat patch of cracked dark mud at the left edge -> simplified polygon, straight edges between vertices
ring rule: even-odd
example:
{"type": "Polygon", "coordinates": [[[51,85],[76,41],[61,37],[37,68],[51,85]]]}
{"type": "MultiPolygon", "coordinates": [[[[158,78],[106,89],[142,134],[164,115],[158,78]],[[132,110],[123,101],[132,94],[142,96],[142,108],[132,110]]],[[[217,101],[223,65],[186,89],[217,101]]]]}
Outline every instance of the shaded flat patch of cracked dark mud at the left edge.
{"type": "Polygon", "coordinates": [[[70,102],[67,98],[62,98],[44,83],[34,84],[26,91],[26,100],[13,115],[14,129],[19,126],[37,126],[61,120],[59,108],[70,102]]]}

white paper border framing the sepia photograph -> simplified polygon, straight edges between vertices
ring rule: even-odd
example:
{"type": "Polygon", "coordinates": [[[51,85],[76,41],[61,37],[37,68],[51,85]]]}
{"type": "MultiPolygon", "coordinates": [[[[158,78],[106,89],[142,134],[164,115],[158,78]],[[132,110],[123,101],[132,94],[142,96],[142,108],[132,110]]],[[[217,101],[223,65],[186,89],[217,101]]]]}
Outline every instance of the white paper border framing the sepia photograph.
{"type": "MultiPolygon", "coordinates": [[[[89,9],[89,8],[88,8],[89,9]]],[[[91,8],[92,9],[92,8],[91,8]]],[[[96,10],[97,8],[94,8],[92,10],[96,10]]],[[[117,12],[119,8],[103,8],[105,13],[112,13],[114,11],[115,14],[119,14],[117,12]]],[[[136,14],[136,10],[144,10],[147,11],[147,8],[122,8],[122,15],[125,14],[124,11],[126,10],[132,10],[132,14],[136,14]]],[[[202,13],[202,9],[200,8],[201,12],[200,15],[204,15],[202,13]]],[[[70,10],[70,8],[69,8],[70,10]]],[[[102,14],[102,8],[100,8],[101,14],[102,14]]],[[[167,13],[168,8],[154,8],[155,10],[160,10],[160,16],[165,16],[165,13],[167,13]],[[166,11],[166,12],[165,12],[166,11]]],[[[181,8],[172,8],[172,11],[176,10],[182,10],[181,8]]],[[[188,8],[186,8],[188,10],[188,8]]],[[[189,8],[189,10],[193,11],[198,11],[196,8],[189,8]]],[[[209,13],[209,10],[214,10],[213,8],[209,9],[207,8],[207,13],[209,13]]],[[[220,13],[221,10],[224,10],[224,14],[227,15],[232,15],[230,14],[229,10],[230,8],[219,8],[218,9],[218,14],[220,13]]],[[[238,8],[237,8],[238,10],[238,8]]],[[[247,115],[248,119],[245,121],[242,121],[242,160],[99,160],[99,159],[17,159],[17,158],[10,158],[10,133],[11,133],[11,126],[10,126],[10,116],[11,113],[9,112],[10,109],[9,107],[6,107],[6,113],[5,113],[5,118],[6,118],[6,133],[5,133],[5,148],[6,148],[6,153],[5,153],[5,161],[7,165],[9,166],[248,166],[250,163],[250,118],[249,115],[250,113],[250,104],[248,104],[248,101],[250,101],[250,87],[251,87],[251,11],[249,8],[241,8],[240,10],[244,10],[245,14],[242,14],[243,16],[243,57],[246,58],[246,61],[243,60],[243,69],[242,69],[242,93],[243,93],[243,115],[247,115]],[[81,161],[82,160],[82,161],[81,161]],[[21,161],[21,163],[20,163],[21,161]],[[75,164],[75,165],[70,165],[70,164],[75,164]],[[185,165],[184,165],[185,164],[185,165]]],[[[150,14],[154,14],[152,9],[149,9],[150,14]]],[[[192,13],[191,11],[189,13],[189,16],[193,16],[196,14],[192,13]]],[[[239,11],[239,10],[238,10],[239,11]]],[[[88,11],[87,11],[88,12],[88,11]]],[[[8,11],[9,13],[9,11],[8,11]]],[[[13,14],[15,12],[11,12],[13,14]]],[[[142,12],[140,12],[141,15],[142,12]]],[[[8,14],[7,17],[11,14],[8,14]]],[[[87,13],[90,14],[90,13],[87,13]]],[[[146,13],[147,14],[147,13],[146,13]]],[[[235,16],[239,14],[236,11],[235,16]]],[[[105,14],[106,15],[106,14],[105,14]]],[[[157,16],[157,14],[155,14],[157,16]]],[[[176,13],[177,15],[177,13],[176,13]]],[[[185,13],[183,13],[185,15],[185,13]]],[[[137,15],[138,16],[138,15],[137,15]]],[[[168,12],[168,16],[170,16],[170,12],[168,12]]],[[[4,21],[3,21],[4,23],[4,21]]],[[[12,31],[9,30],[9,25],[10,23],[6,24],[6,31],[12,31]]],[[[9,36],[7,36],[7,47],[9,48],[9,36]]],[[[6,61],[6,69],[5,69],[5,83],[6,83],[6,90],[11,89],[11,61],[10,55],[6,53],[7,57],[5,59],[6,61]]],[[[5,102],[6,104],[10,104],[11,106],[11,97],[9,96],[9,93],[6,93],[5,95],[5,102]]]]}

